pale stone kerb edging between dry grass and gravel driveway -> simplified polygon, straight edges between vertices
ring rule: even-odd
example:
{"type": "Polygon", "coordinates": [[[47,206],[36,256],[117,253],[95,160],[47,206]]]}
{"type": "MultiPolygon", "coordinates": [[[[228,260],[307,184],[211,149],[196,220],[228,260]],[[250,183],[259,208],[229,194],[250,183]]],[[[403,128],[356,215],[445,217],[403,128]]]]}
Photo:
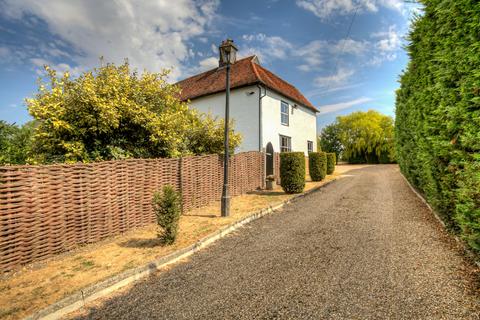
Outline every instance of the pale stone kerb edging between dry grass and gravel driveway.
{"type": "Polygon", "coordinates": [[[85,304],[88,302],[92,302],[96,299],[105,297],[109,295],[110,293],[121,289],[137,280],[140,280],[144,278],[145,276],[148,276],[159,269],[166,267],[170,264],[173,264],[181,259],[184,259],[186,257],[191,256],[195,252],[201,250],[202,248],[207,247],[208,245],[214,243],[215,241],[223,238],[227,234],[239,229],[240,227],[255,221],[257,219],[262,218],[263,216],[267,214],[271,214],[276,212],[277,210],[283,208],[285,205],[291,203],[292,201],[295,201],[299,198],[305,197],[306,195],[309,195],[313,192],[318,191],[319,189],[329,185],[330,183],[336,181],[339,179],[340,176],[334,177],[332,180],[325,182],[324,184],[320,186],[313,187],[310,190],[307,190],[303,193],[297,194],[293,196],[290,199],[284,200],[280,202],[279,204],[275,206],[269,206],[268,208],[263,208],[257,211],[252,212],[250,215],[247,217],[240,219],[236,222],[233,222],[223,228],[221,228],[218,231],[213,232],[212,234],[198,240],[194,244],[177,250],[169,255],[166,255],[164,257],[161,257],[157,260],[154,260],[144,266],[137,267],[131,270],[127,270],[123,273],[120,273],[118,275],[112,276],[110,278],[107,278],[103,281],[100,281],[96,284],[93,284],[91,286],[88,286],[84,288],[83,290],[79,290],[71,295],[69,295],[66,298],[63,298],[62,300],[55,302],[51,304],[50,306],[46,307],[43,310],[40,310],[33,315],[30,315],[26,318],[25,320],[37,320],[37,319],[42,319],[42,320],[55,320],[55,319],[60,319],[63,316],[72,313],[74,311],[79,310],[82,307],[85,307],[85,304]]]}

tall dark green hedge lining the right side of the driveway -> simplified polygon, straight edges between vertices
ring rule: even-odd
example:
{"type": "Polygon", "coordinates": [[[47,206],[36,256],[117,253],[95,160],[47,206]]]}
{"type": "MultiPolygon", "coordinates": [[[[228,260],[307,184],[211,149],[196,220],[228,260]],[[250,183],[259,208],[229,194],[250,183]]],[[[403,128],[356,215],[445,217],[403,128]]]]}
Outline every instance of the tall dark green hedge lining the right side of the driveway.
{"type": "Polygon", "coordinates": [[[444,221],[480,250],[480,2],[422,0],[397,91],[397,160],[444,221]]]}

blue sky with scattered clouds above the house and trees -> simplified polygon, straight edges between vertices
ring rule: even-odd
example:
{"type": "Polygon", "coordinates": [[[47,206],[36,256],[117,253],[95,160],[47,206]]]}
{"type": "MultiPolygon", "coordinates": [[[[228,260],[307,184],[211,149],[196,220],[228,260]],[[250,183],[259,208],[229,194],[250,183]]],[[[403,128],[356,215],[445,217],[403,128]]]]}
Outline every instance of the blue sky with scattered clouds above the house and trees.
{"type": "Polygon", "coordinates": [[[0,0],[0,119],[30,119],[23,101],[44,64],[76,75],[100,56],[128,58],[173,68],[176,81],[214,67],[226,37],[300,89],[321,111],[319,130],[356,110],[393,116],[413,10],[403,0],[0,0]]]}

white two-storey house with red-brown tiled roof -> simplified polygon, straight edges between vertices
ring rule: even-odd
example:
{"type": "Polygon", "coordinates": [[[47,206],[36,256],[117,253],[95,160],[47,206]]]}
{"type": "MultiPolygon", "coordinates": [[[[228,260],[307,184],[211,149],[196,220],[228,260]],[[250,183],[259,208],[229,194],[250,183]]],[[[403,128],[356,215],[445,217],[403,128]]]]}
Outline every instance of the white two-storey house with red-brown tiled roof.
{"type": "MultiPolygon", "coordinates": [[[[225,67],[177,83],[181,99],[201,112],[225,116],[225,67]]],[[[230,73],[230,117],[243,137],[236,151],[314,151],[318,110],[293,85],[263,68],[256,56],[237,61],[230,73]]]]}

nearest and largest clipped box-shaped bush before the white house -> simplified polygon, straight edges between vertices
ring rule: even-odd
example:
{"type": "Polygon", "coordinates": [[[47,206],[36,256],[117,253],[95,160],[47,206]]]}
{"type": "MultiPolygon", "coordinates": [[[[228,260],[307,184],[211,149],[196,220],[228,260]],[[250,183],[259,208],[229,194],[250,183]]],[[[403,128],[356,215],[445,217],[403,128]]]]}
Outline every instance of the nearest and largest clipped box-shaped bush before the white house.
{"type": "Polygon", "coordinates": [[[305,154],[280,153],[280,185],[285,193],[300,193],[305,188],[305,154]]]}

